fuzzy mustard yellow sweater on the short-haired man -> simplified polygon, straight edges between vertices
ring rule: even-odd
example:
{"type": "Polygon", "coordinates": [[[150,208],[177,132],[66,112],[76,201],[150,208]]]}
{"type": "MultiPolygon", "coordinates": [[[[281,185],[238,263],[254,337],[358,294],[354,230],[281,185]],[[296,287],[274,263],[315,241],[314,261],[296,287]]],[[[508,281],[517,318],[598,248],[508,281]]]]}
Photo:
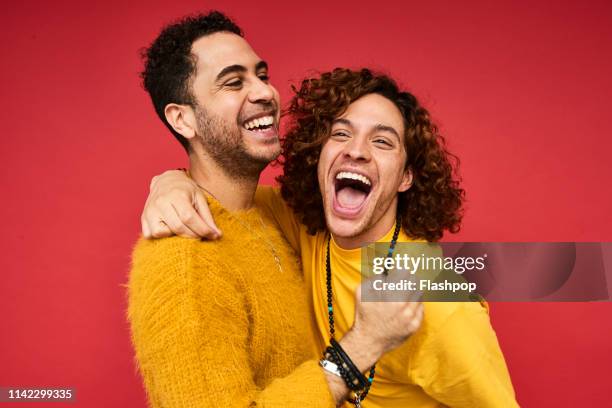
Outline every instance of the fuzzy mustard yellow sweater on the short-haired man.
{"type": "Polygon", "coordinates": [[[134,249],[128,318],[150,405],[333,407],[300,267],[273,218],[209,205],[220,241],[134,249]]]}

